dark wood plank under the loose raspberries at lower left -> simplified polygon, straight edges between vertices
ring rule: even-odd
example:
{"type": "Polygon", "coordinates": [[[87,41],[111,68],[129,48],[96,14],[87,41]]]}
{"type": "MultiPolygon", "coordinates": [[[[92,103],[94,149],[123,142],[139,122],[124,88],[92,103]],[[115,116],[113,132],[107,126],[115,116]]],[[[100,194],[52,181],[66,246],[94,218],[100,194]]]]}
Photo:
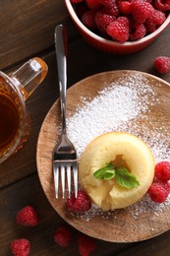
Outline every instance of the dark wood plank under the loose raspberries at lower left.
{"type": "MultiPolygon", "coordinates": [[[[61,248],[53,239],[54,230],[61,224],[66,224],[49,205],[40,187],[37,175],[31,175],[0,191],[0,255],[10,256],[9,244],[13,239],[27,238],[31,245],[33,256],[79,255],[77,237],[80,234],[71,227],[73,242],[67,248],[61,248]],[[16,215],[23,207],[33,206],[39,217],[39,224],[35,227],[21,226],[16,223],[16,215]]],[[[67,225],[67,224],[66,224],[67,225]]],[[[115,244],[95,240],[94,255],[117,255],[120,250],[130,248],[132,244],[115,244]]]]}

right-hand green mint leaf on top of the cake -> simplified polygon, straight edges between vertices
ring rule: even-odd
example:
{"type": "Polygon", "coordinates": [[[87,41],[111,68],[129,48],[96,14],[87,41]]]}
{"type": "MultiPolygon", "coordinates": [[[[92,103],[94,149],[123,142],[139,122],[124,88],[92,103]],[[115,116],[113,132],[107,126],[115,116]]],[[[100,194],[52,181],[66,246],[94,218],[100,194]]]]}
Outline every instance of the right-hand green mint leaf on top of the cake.
{"type": "Polygon", "coordinates": [[[134,188],[140,185],[136,176],[124,167],[116,168],[116,182],[125,188],[134,188]]]}

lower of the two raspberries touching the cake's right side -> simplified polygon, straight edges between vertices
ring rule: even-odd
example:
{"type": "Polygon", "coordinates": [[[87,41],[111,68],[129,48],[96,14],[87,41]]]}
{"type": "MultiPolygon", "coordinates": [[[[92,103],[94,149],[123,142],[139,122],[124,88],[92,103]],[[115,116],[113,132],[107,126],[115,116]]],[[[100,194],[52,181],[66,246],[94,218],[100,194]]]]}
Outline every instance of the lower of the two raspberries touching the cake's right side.
{"type": "Polygon", "coordinates": [[[152,183],[148,189],[148,194],[151,200],[156,203],[163,203],[167,199],[169,192],[169,184],[162,181],[152,183]]]}

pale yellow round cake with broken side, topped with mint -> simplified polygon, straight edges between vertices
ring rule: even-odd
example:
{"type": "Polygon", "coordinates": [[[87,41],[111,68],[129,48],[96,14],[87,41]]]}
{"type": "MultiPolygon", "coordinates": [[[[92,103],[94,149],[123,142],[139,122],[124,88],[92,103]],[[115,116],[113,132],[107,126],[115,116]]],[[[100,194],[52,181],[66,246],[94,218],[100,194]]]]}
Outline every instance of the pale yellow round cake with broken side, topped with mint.
{"type": "Polygon", "coordinates": [[[86,147],[79,165],[80,183],[90,200],[99,208],[125,208],[137,203],[145,195],[154,177],[154,165],[154,158],[141,139],[123,132],[107,133],[95,138],[86,147]],[[117,168],[121,167],[118,180],[112,169],[107,177],[113,175],[113,178],[95,178],[94,172],[109,162],[117,168]],[[126,173],[125,169],[130,174],[127,176],[128,181],[132,175],[137,178],[134,178],[136,185],[132,188],[124,187],[127,180],[123,181],[123,186],[120,185],[120,175],[126,173]]]}

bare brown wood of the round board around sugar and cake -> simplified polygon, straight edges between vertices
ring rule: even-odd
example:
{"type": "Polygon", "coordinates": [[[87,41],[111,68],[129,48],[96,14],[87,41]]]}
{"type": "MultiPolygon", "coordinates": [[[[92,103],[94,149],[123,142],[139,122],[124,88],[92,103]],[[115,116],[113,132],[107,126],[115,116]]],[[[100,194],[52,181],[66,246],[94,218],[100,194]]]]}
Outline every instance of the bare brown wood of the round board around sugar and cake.
{"type": "MultiPolygon", "coordinates": [[[[136,76],[148,80],[158,96],[158,102],[148,111],[148,118],[154,120],[152,129],[158,125],[170,132],[170,86],[165,81],[139,71],[111,71],[93,75],[80,81],[67,91],[67,117],[72,116],[77,107],[85,104],[83,98],[94,98],[111,83],[124,76],[136,76]],[[161,123],[159,122],[161,117],[161,123]]],[[[146,118],[147,119],[147,118],[146,118]]],[[[146,120],[147,121],[147,120],[146,120]]],[[[160,211],[140,212],[138,208],[115,210],[90,216],[74,216],[67,211],[66,200],[55,199],[52,171],[52,154],[59,139],[61,125],[59,99],[49,110],[42,124],[37,142],[37,170],[44,193],[56,212],[68,223],[85,234],[111,242],[134,242],[156,236],[170,228],[170,204],[160,211]],[[137,212],[136,212],[137,211],[137,212]]],[[[91,127],[92,128],[92,127],[91,127]]],[[[156,203],[155,203],[156,204],[156,203]]],[[[156,206],[157,207],[157,206],[156,206]]],[[[157,209],[157,208],[156,208],[157,209]]]]}

